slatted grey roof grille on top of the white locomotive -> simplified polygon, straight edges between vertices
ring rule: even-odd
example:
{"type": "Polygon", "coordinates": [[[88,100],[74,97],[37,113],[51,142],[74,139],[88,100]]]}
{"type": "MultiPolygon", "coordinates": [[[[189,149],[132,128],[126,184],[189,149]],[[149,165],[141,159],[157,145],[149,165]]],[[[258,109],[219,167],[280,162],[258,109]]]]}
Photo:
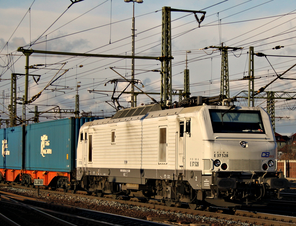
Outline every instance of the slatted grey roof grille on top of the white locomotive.
{"type": "Polygon", "coordinates": [[[161,110],[161,107],[158,104],[128,108],[128,109],[123,109],[116,112],[116,114],[112,117],[112,119],[146,115],[150,111],[157,111],[157,110],[161,110]]]}

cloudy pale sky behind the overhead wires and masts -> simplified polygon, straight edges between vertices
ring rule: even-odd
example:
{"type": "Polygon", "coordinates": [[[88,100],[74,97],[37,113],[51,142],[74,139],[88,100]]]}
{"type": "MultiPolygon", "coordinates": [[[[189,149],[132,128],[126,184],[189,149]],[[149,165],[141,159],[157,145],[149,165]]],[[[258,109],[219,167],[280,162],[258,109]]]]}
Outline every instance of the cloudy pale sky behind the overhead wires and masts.
{"type": "MultiPolygon", "coordinates": [[[[191,51],[187,53],[187,66],[190,70],[192,96],[220,94],[221,54],[215,48],[202,50],[207,46],[221,46],[223,43],[224,46],[243,47],[242,50],[228,53],[231,97],[245,96],[242,91],[248,90],[248,81],[242,79],[248,76],[250,46],[254,47],[255,53],[272,55],[254,56],[255,90],[259,90],[275,79],[277,74],[283,73],[296,63],[296,1],[143,1],[142,4],[134,4],[136,56],[161,56],[162,7],[206,11],[200,27],[194,14],[171,12],[173,90],[183,89],[186,51],[191,51]],[[273,49],[276,46],[284,47],[273,49]]],[[[42,51],[131,55],[131,2],[84,0],[71,5],[70,0],[0,0],[0,3],[0,111],[3,112],[3,119],[8,118],[11,74],[25,73],[25,56],[17,51],[18,47],[42,51]]],[[[201,15],[197,14],[198,18],[201,15]]],[[[121,79],[117,73],[131,79],[131,59],[33,53],[29,65],[36,64],[44,66],[37,66],[37,69],[29,71],[30,74],[40,75],[38,82],[35,81],[37,76],[29,78],[29,99],[41,91],[42,94],[27,106],[27,118],[33,116],[33,113],[29,112],[34,111],[35,106],[38,106],[39,111],[48,111],[54,107],[75,110],[77,82],[81,82],[78,89],[80,111],[91,112],[93,116],[111,116],[115,111],[110,106],[114,83],[109,81],[121,79]]],[[[145,92],[159,93],[160,73],[152,70],[160,68],[160,61],[136,59],[135,79],[139,79],[144,85],[144,88],[141,84],[138,84],[138,87],[145,92]]],[[[295,69],[296,67],[282,77],[295,79],[295,69]]],[[[265,91],[274,91],[276,96],[285,98],[294,97],[295,82],[296,80],[277,79],[265,91]]],[[[24,76],[19,75],[17,97],[22,98],[24,95],[24,84],[24,76]]],[[[127,84],[118,83],[114,97],[117,97],[127,84]]],[[[127,91],[130,90],[129,86],[127,91]]],[[[150,96],[157,101],[160,100],[159,95],[150,96]]],[[[178,100],[178,96],[174,96],[173,99],[178,100]]],[[[120,104],[124,107],[131,106],[130,100],[129,94],[122,94],[119,98],[120,104]]],[[[236,105],[247,105],[245,99],[238,100],[236,105]]],[[[151,99],[146,95],[138,95],[137,105],[142,103],[151,103],[151,99]]],[[[256,98],[255,106],[266,109],[266,105],[266,99],[256,98]]],[[[22,105],[18,105],[17,108],[17,114],[21,116],[22,105]]],[[[283,135],[296,132],[295,108],[295,100],[275,99],[276,132],[283,135]]],[[[50,120],[60,115],[44,113],[41,116],[41,120],[50,120]]]]}

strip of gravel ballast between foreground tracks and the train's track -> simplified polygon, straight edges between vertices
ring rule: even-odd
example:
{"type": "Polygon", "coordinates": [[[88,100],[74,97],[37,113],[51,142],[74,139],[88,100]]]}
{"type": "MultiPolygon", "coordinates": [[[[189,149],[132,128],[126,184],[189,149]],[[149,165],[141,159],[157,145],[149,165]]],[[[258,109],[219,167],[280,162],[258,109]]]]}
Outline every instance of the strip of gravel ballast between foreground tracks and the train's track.
{"type": "Polygon", "coordinates": [[[52,201],[96,211],[118,214],[127,217],[134,217],[143,220],[146,220],[147,217],[161,217],[167,218],[170,222],[182,222],[185,224],[209,224],[211,226],[255,226],[252,223],[236,222],[232,220],[216,219],[213,217],[198,216],[193,214],[148,209],[146,207],[121,204],[116,201],[106,201],[72,195],[55,194],[44,191],[40,191],[40,196],[38,196],[36,191],[6,186],[0,186],[0,190],[36,199],[42,199],[45,201],[52,201]]]}

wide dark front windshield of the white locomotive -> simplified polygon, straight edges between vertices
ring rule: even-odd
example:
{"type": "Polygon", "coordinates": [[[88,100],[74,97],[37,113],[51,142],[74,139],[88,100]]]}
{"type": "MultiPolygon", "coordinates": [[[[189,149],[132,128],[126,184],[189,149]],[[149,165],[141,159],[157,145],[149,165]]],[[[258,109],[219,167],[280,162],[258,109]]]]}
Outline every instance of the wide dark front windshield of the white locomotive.
{"type": "Polygon", "coordinates": [[[214,133],[265,134],[260,111],[210,109],[214,133]]]}

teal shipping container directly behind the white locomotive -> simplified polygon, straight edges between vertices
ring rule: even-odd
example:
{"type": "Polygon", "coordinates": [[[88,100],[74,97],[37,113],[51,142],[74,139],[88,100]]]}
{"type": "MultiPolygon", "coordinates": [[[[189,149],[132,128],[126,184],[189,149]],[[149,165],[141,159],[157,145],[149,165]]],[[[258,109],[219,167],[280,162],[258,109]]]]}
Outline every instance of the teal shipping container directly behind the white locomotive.
{"type": "Polygon", "coordinates": [[[98,118],[65,118],[25,126],[25,169],[70,172],[76,167],[79,129],[98,118]]]}

